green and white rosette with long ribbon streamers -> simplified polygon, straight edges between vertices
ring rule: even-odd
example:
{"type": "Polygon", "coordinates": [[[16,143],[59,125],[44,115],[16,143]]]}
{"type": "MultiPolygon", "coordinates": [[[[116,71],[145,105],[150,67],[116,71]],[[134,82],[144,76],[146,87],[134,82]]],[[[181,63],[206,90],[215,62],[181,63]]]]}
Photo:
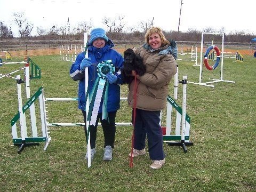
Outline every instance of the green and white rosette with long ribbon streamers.
{"type": "Polygon", "coordinates": [[[102,119],[108,119],[107,117],[107,102],[108,102],[108,86],[109,83],[106,81],[106,75],[110,72],[115,73],[115,67],[111,60],[102,61],[97,66],[98,77],[93,85],[92,91],[89,94],[90,107],[87,116],[87,121],[90,125],[96,124],[96,119],[98,116],[98,111],[100,107],[101,99],[103,99],[102,105],[102,119]]]}

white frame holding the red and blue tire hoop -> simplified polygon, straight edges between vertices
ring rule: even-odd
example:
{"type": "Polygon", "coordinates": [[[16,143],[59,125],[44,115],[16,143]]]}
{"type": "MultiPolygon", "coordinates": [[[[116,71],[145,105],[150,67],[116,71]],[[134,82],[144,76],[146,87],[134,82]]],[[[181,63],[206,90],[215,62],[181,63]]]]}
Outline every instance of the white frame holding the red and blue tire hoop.
{"type": "Polygon", "coordinates": [[[228,83],[235,83],[234,81],[227,81],[223,80],[223,56],[224,56],[224,34],[223,33],[202,33],[202,38],[201,38],[201,53],[200,53],[200,71],[199,71],[199,82],[188,82],[188,83],[193,83],[197,85],[203,85],[203,86],[209,86],[209,87],[214,87],[214,85],[209,85],[211,83],[217,83],[217,82],[228,82],[228,83]],[[221,59],[221,71],[220,71],[220,79],[213,79],[209,78],[211,81],[209,82],[204,82],[202,81],[202,73],[203,73],[203,39],[204,39],[204,34],[210,34],[210,35],[221,35],[222,36],[222,43],[221,43],[221,54],[220,54],[220,59],[221,59]]]}

